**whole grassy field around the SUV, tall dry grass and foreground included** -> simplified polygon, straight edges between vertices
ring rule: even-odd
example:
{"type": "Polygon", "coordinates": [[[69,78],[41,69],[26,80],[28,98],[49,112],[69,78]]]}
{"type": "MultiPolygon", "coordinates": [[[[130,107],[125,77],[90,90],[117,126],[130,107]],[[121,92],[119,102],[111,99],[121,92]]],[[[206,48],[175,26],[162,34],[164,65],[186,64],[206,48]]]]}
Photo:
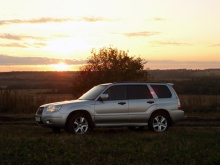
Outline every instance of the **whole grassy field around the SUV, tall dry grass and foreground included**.
{"type": "Polygon", "coordinates": [[[79,136],[35,124],[39,105],[72,99],[45,92],[0,92],[0,165],[220,164],[220,95],[180,95],[186,120],[165,133],[99,128],[79,136]]]}

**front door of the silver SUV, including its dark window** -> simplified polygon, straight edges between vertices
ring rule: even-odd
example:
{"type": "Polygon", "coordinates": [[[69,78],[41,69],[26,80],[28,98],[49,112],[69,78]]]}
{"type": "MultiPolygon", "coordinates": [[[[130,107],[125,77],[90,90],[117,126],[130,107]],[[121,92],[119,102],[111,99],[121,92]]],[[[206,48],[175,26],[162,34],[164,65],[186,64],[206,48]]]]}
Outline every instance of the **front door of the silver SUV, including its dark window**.
{"type": "Polygon", "coordinates": [[[127,86],[115,85],[109,87],[104,94],[109,98],[96,101],[95,123],[104,125],[123,124],[128,122],[127,86]]]}

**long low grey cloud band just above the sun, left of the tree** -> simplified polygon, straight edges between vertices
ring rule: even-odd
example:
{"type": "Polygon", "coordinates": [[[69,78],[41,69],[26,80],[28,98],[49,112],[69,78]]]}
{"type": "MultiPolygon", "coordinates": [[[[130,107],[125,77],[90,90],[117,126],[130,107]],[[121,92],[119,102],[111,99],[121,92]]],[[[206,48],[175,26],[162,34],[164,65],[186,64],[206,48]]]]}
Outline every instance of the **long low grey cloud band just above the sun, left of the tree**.
{"type": "Polygon", "coordinates": [[[86,60],[56,59],[47,57],[15,57],[0,55],[0,65],[50,65],[64,62],[68,65],[85,64],[86,60]]]}

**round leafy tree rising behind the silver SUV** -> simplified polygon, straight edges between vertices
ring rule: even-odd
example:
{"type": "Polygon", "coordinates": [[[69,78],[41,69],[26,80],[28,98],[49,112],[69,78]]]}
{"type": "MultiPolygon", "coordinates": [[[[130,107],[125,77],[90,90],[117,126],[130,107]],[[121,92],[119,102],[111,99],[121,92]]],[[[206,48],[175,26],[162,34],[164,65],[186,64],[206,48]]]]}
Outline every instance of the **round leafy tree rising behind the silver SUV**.
{"type": "Polygon", "coordinates": [[[85,92],[94,85],[117,81],[146,81],[146,61],[140,57],[129,57],[128,51],[103,47],[92,49],[87,64],[80,68],[74,78],[74,93],[85,92]]]}

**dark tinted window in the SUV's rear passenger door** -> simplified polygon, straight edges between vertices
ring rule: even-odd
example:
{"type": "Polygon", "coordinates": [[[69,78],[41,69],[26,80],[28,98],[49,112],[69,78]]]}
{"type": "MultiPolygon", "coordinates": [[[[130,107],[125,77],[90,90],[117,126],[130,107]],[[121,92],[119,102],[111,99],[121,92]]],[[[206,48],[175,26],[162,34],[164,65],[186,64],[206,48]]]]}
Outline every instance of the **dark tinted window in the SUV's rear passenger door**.
{"type": "Polygon", "coordinates": [[[128,99],[150,99],[152,95],[146,85],[129,85],[128,99]]]}

